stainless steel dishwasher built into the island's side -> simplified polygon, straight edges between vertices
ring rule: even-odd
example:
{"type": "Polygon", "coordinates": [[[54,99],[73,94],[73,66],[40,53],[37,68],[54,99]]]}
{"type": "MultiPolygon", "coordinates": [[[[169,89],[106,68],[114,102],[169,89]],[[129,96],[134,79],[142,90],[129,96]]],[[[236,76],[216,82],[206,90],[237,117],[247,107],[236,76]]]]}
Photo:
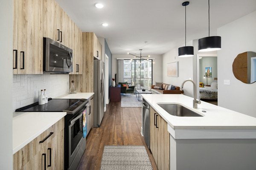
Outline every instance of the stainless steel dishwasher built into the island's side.
{"type": "Polygon", "coordinates": [[[142,101],[142,129],[148,148],[150,148],[150,105],[144,99],[142,101]]]}

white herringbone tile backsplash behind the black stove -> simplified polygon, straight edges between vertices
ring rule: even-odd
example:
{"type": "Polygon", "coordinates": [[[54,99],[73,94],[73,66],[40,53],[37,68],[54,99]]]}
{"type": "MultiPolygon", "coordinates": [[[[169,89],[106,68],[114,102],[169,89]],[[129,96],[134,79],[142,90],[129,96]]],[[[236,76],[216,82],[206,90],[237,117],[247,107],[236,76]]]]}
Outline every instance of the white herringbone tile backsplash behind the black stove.
{"type": "Polygon", "coordinates": [[[46,89],[48,98],[67,94],[68,74],[20,74],[13,75],[12,104],[17,108],[38,102],[41,89],[46,89]]]}

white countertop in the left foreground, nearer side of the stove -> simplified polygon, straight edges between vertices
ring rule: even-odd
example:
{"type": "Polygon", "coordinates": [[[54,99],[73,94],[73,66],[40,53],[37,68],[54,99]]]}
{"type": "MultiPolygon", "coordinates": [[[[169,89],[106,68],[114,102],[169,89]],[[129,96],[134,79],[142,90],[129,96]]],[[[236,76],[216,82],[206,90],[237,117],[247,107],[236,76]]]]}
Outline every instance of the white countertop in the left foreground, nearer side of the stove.
{"type": "Polygon", "coordinates": [[[66,112],[15,112],[12,119],[12,153],[63,118],[66,112]]]}

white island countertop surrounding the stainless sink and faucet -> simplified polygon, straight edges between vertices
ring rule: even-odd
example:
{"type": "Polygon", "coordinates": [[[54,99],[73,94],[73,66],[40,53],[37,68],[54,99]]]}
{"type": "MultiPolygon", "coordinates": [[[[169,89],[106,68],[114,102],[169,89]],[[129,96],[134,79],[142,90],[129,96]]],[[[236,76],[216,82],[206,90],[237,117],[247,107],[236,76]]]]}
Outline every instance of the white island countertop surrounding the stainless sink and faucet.
{"type": "Polygon", "coordinates": [[[172,129],[249,129],[256,136],[256,118],[231,111],[216,105],[201,101],[198,108],[193,108],[193,98],[182,94],[142,94],[151,107],[154,108],[172,129]],[[157,104],[180,104],[202,117],[172,116],[157,104]],[[202,111],[206,111],[203,113],[202,111]]]}

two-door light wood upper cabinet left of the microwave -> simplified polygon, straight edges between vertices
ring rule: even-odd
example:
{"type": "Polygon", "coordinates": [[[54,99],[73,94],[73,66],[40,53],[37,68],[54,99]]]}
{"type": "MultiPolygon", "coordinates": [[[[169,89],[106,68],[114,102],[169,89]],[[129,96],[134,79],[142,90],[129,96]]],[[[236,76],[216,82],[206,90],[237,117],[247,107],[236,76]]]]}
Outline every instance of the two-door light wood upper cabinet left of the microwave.
{"type": "Polygon", "coordinates": [[[13,74],[43,74],[43,0],[14,0],[13,74]]]}

